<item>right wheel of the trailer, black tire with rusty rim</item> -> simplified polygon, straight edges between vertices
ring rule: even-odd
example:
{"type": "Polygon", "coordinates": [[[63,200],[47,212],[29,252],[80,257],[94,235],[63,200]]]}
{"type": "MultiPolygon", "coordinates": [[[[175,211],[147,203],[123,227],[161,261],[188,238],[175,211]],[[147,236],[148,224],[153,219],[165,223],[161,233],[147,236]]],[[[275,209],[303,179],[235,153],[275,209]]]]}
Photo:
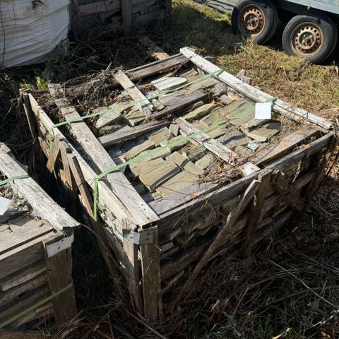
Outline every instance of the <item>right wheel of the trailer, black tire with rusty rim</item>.
{"type": "Polygon", "coordinates": [[[325,13],[307,11],[294,16],[283,32],[286,54],[319,64],[332,54],[338,41],[338,29],[325,13]]]}

